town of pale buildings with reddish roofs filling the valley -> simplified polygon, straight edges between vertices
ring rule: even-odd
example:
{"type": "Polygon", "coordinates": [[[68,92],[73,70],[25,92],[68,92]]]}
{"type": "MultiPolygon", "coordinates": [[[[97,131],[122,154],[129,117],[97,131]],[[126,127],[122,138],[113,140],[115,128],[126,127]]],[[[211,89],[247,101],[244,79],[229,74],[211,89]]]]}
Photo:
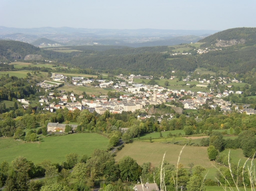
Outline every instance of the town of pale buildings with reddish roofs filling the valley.
{"type": "MultiPolygon", "coordinates": [[[[175,72],[175,71],[173,71],[175,72]]],[[[96,111],[99,114],[103,114],[105,111],[109,111],[110,113],[122,113],[122,111],[131,111],[135,110],[147,110],[148,105],[157,105],[157,104],[168,104],[168,102],[179,101],[183,104],[184,109],[199,109],[203,104],[208,104],[212,109],[220,109],[223,112],[231,112],[231,102],[224,101],[222,98],[226,97],[230,94],[242,94],[242,91],[233,91],[230,90],[232,87],[229,86],[229,82],[239,82],[235,79],[222,78],[218,77],[215,79],[213,76],[210,77],[210,80],[207,79],[191,79],[190,75],[187,78],[183,79],[183,81],[199,81],[200,83],[197,86],[212,86],[212,82],[215,80],[218,81],[219,84],[227,84],[227,88],[229,90],[225,90],[223,93],[218,93],[214,95],[213,91],[210,93],[206,92],[193,92],[191,90],[180,89],[180,90],[172,90],[167,87],[161,87],[159,85],[144,85],[139,83],[133,83],[134,78],[141,79],[153,79],[152,76],[135,76],[131,74],[128,77],[124,77],[122,74],[118,76],[121,79],[125,79],[126,81],[119,81],[115,83],[113,81],[107,81],[104,79],[85,79],[84,77],[72,77],[72,83],[74,86],[90,86],[91,83],[97,81],[99,83],[100,88],[111,87],[115,89],[117,92],[120,91],[120,97],[110,98],[108,95],[101,95],[96,97],[95,95],[91,95],[91,99],[86,99],[84,95],[75,95],[73,93],[67,94],[64,91],[59,93],[60,96],[55,96],[53,92],[50,92],[47,97],[41,96],[39,102],[42,106],[44,106],[44,110],[48,110],[50,112],[54,112],[57,109],[67,108],[68,110],[83,110],[88,109],[90,112],[96,111]],[[182,99],[183,96],[191,96],[191,99],[182,99]],[[51,103],[50,100],[56,98],[59,102],[51,103]]],[[[171,78],[174,79],[175,76],[171,78]]],[[[65,82],[66,76],[62,74],[52,74],[52,79],[54,81],[62,81],[65,82]]],[[[47,85],[47,84],[46,84],[47,85]]],[[[38,86],[50,89],[55,87],[55,85],[47,85],[44,83],[38,84],[38,86]]],[[[28,107],[29,102],[27,100],[18,100],[21,103],[25,104],[24,108],[28,107]]],[[[235,104],[232,105],[234,109],[239,112],[245,112],[248,115],[256,114],[254,109],[249,108],[249,105],[237,106],[235,104]]]]}

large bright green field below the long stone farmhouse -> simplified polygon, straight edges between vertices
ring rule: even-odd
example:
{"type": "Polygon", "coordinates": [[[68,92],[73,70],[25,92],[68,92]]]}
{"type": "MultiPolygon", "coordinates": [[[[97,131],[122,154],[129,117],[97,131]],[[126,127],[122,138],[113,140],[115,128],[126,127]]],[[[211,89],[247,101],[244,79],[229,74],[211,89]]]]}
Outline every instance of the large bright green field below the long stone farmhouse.
{"type": "Polygon", "coordinates": [[[94,149],[107,149],[108,139],[96,133],[69,134],[43,137],[42,142],[24,143],[13,138],[0,138],[0,162],[11,162],[24,156],[35,164],[43,160],[62,163],[65,155],[77,153],[91,155],[94,149]]]}

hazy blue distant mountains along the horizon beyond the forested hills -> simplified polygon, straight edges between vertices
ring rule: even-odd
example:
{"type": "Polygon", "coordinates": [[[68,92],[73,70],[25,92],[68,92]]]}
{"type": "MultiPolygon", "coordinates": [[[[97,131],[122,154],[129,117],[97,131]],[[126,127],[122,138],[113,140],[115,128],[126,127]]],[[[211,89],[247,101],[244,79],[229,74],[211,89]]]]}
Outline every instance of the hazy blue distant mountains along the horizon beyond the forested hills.
{"type": "Polygon", "coordinates": [[[8,28],[0,26],[0,39],[30,43],[40,47],[63,45],[122,45],[131,47],[170,46],[195,43],[216,30],[83,29],[70,27],[8,28]],[[55,43],[46,43],[48,41],[55,43]],[[55,44],[55,45],[54,45],[55,44]]]}

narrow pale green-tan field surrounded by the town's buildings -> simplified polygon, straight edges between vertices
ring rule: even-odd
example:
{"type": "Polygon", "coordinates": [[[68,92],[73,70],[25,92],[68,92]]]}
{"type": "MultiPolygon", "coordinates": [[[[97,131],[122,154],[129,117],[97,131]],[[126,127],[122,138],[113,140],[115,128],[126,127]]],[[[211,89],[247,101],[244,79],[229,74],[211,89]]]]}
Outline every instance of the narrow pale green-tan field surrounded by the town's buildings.
{"type": "MultiPolygon", "coordinates": [[[[88,87],[88,86],[62,86],[58,88],[58,90],[65,90],[65,91],[73,91],[75,94],[82,94],[83,91],[86,92],[88,95],[107,95],[110,91],[109,89],[105,90],[103,88],[95,88],[95,87],[88,87]]],[[[112,91],[117,91],[112,89],[112,91]]]]}

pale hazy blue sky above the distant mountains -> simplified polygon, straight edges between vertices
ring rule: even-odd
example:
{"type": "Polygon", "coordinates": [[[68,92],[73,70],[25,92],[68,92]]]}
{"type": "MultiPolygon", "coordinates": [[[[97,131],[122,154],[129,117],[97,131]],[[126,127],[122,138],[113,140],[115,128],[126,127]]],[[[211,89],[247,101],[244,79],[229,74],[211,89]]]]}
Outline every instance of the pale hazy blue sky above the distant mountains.
{"type": "Polygon", "coordinates": [[[256,27],[256,0],[0,0],[16,28],[225,30],[256,27]]]}

